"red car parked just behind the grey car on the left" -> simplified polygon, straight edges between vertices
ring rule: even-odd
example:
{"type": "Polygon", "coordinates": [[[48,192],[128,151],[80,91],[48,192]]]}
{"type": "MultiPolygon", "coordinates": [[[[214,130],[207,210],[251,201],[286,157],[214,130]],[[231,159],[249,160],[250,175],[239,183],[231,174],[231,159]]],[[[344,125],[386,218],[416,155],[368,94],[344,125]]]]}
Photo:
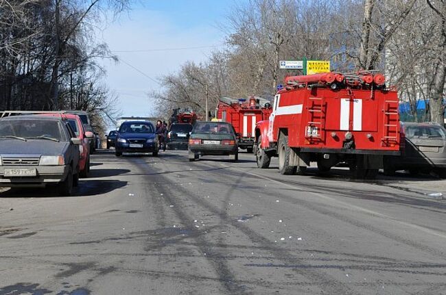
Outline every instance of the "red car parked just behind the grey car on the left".
{"type": "Polygon", "coordinates": [[[79,145],[79,176],[83,178],[88,177],[90,172],[90,140],[93,139],[93,132],[84,131],[84,125],[82,125],[82,121],[80,120],[79,116],[75,114],[47,113],[40,115],[58,116],[68,121],[71,129],[73,129],[76,137],[79,138],[81,142],[79,145]]]}

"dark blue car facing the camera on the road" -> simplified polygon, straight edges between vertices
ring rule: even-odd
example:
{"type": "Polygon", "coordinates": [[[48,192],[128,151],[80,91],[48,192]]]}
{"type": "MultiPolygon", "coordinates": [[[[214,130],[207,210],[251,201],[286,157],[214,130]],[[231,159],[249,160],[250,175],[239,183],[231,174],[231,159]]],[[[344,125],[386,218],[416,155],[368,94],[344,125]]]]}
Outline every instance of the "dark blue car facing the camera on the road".
{"type": "Polygon", "coordinates": [[[158,155],[159,142],[155,128],[147,121],[128,121],[119,127],[115,141],[115,155],[122,153],[152,153],[158,155]]]}

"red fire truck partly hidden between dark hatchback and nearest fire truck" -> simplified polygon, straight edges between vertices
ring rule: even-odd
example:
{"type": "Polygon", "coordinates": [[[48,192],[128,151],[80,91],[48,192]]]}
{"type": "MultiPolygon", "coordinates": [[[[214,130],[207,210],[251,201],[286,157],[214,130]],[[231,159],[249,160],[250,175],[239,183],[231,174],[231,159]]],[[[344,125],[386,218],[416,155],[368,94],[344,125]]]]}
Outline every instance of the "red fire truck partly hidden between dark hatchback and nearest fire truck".
{"type": "Polygon", "coordinates": [[[239,138],[239,148],[246,149],[248,153],[253,153],[255,125],[261,120],[268,120],[271,112],[270,101],[262,97],[250,97],[248,101],[246,99],[220,97],[217,118],[234,126],[239,138]]]}

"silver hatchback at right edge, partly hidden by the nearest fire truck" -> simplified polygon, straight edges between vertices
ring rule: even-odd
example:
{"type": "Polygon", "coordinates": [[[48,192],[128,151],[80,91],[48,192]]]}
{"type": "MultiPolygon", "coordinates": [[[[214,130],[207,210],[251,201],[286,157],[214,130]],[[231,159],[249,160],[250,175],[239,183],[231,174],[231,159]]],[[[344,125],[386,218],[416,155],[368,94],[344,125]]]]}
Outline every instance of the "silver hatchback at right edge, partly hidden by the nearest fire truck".
{"type": "Polygon", "coordinates": [[[431,123],[401,123],[401,156],[384,157],[384,174],[407,170],[446,177],[446,129],[431,123]]]}

